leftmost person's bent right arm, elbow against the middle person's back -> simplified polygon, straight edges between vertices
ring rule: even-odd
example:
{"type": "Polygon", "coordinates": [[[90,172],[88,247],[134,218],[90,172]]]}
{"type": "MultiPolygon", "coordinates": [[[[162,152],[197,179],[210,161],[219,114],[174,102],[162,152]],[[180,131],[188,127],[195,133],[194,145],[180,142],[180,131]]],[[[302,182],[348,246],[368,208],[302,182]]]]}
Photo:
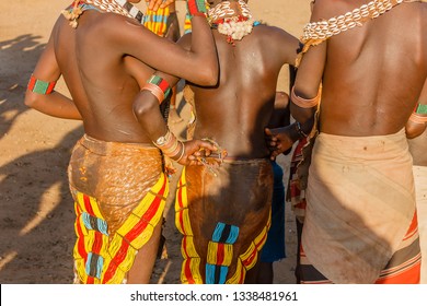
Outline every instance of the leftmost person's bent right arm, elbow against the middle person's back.
{"type": "Polygon", "coordinates": [[[172,75],[176,75],[199,85],[215,85],[218,79],[218,59],[210,27],[203,16],[192,19],[193,35],[191,48],[184,49],[177,44],[151,33],[136,21],[126,21],[126,31],[113,31],[111,46],[172,75]],[[143,42],[135,39],[143,37],[143,42]],[[147,46],[152,46],[147,48],[147,46]],[[153,51],[155,50],[155,51],[153,51]],[[168,60],[165,60],[168,59],[168,60]]]}

